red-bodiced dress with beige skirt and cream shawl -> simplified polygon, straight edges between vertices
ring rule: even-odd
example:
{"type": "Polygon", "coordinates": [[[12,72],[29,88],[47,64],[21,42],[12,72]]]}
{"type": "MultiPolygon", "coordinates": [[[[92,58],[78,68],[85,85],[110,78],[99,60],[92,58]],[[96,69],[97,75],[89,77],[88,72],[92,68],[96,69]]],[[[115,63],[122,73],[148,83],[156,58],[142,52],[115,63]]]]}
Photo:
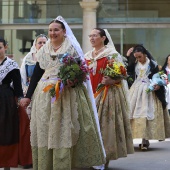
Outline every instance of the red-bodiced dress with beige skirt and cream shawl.
{"type": "MultiPolygon", "coordinates": [[[[94,88],[96,88],[96,83],[101,83],[102,76],[99,74],[99,70],[106,67],[106,64],[104,64],[105,60],[109,59],[115,53],[117,52],[115,52],[112,47],[106,46],[106,49],[95,58],[92,57],[92,51],[85,55],[87,63],[92,60],[89,62],[89,68],[93,69],[90,78],[94,83],[94,85],[92,83],[94,88]],[[94,80],[98,81],[95,82],[94,80]]],[[[115,60],[121,61],[121,56],[118,54],[115,60]]],[[[95,89],[93,89],[93,91],[95,91],[95,89]]],[[[119,87],[111,86],[108,89],[107,96],[104,101],[103,93],[104,91],[102,91],[96,98],[96,106],[98,110],[102,139],[106,151],[106,159],[109,161],[126,157],[127,154],[134,152],[134,147],[129,120],[130,110],[127,101],[127,88],[125,87],[125,82],[122,81],[119,87]]]]}

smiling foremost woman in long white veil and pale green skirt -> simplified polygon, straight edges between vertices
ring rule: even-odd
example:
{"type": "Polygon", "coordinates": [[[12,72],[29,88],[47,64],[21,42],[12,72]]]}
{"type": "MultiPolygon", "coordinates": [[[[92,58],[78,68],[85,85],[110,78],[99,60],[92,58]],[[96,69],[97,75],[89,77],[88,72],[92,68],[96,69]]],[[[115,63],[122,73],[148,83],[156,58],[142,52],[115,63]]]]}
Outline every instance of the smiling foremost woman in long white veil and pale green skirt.
{"type": "Polygon", "coordinates": [[[31,112],[31,146],[34,169],[91,167],[105,162],[105,152],[90,81],[67,87],[54,102],[51,85],[57,86],[61,56],[69,54],[84,61],[82,49],[66,21],[58,16],[49,24],[49,41],[37,53],[25,107],[33,99],[31,112]],[[46,155],[46,157],[43,157],[46,155]]]}

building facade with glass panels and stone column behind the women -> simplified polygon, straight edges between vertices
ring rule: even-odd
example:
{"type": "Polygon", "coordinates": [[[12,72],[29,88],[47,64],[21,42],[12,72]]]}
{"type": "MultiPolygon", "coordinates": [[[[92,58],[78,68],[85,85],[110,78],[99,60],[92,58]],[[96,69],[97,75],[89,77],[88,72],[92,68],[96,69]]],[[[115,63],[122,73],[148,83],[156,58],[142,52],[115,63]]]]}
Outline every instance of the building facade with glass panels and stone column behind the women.
{"type": "Polygon", "coordinates": [[[88,34],[106,28],[122,55],[143,44],[159,64],[170,54],[170,0],[3,0],[0,36],[8,41],[7,54],[21,64],[36,35],[62,15],[84,52],[91,49],[88,34]]]}

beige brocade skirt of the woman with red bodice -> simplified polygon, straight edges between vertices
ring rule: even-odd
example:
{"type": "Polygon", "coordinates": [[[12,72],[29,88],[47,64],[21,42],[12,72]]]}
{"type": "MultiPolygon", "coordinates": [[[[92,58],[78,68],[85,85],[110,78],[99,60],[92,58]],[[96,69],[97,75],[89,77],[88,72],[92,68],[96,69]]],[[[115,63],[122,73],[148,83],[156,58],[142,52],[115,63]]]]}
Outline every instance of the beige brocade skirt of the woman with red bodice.
{"type": "Polygon", "coordinates": [[[103,92],[96,98],[101,134],[107,160],[134,153],[129,107],[123,87],[111,86],[103,102],[103,92]]]}

